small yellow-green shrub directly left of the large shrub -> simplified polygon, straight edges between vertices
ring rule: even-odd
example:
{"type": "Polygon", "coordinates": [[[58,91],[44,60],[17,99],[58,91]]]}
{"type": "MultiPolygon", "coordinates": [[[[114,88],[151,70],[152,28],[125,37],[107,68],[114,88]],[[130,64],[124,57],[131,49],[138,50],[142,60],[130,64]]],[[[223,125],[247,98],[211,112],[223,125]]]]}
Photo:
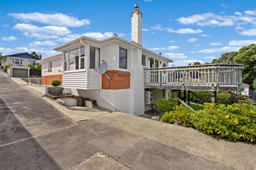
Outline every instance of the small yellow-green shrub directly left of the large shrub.
{"type": "Polygon", "coordinates": [[[165,112],[160,120],[166,123],[178,123],[183,127],[191,127],[190,115],[191,111],[188,107],[177,105],[174,111],[165,112]]]}

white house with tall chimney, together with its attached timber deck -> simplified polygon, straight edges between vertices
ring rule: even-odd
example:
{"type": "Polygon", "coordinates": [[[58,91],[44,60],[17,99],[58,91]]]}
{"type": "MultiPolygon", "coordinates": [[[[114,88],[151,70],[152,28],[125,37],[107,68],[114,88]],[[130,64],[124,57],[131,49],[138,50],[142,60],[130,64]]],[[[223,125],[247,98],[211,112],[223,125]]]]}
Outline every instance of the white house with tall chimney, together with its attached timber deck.
{"type": "MultiPolygon", "coordinates": [[[[189,90],[212,91],[215,103],[217,91],[240,91],[242,85],[241,64],[168,67],[171,59],[142,47],[142,14],[137,4],[131,13],[131,42],[117,34],[103,40],[81,36],[54,50],[62,53],[62,66],[56,66],[62,68],[56,68],[62,71],[62,87],[96,100],[101,107],[131,115],[155,107],[157,99],[168,99],[169,90],[175,98],[174,90],[179,91],[178,97],[181,90],[188,90],[188,99],[189,90]],[[104,61],[110,80],[95,71],[104,61]]],[[[55,60],[60,64],[59,56],[38,61],[43,76],[50,76],[55,60]]]]}

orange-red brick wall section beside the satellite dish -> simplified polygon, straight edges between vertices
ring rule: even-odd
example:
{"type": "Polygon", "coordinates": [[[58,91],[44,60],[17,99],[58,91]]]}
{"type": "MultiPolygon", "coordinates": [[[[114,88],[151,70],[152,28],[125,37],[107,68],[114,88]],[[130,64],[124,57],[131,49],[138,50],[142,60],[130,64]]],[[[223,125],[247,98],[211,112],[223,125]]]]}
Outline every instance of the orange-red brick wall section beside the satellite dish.
{"type": "Polygon", "coordinates": [[[131,74],[127,71],[118,71],[118,70],[108,70],[106,72],[107,76],[110,77],[110,88],[109,88],[109,79],[102,75],[102,89],[130,89],[130,76],[131,74]]]}

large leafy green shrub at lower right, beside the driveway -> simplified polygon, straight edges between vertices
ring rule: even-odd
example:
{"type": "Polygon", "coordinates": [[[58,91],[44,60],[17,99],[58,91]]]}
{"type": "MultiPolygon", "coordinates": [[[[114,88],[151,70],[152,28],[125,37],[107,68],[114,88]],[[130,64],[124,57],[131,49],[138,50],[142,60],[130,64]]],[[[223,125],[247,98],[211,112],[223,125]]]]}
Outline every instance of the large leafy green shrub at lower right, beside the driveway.
{"type": "Polygon", "coordinates": [[[193,127],[228,140],[256,142],[256,109],[246,103],[225,106],[206,103],[204,110],[191,113],[193,127]]]}

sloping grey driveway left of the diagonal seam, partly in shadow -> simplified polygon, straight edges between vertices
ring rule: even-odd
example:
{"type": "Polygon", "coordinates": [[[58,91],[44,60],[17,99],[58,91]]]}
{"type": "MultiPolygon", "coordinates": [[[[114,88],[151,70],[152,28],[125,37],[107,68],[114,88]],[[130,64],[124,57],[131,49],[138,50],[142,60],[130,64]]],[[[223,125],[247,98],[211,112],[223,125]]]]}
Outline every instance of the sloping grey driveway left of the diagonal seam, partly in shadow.
{"type": "Polygon", "coordinates": [[[225,168],[95,120],[72,121],[0,71],[0,170],[8,169],[225,168]]]}

